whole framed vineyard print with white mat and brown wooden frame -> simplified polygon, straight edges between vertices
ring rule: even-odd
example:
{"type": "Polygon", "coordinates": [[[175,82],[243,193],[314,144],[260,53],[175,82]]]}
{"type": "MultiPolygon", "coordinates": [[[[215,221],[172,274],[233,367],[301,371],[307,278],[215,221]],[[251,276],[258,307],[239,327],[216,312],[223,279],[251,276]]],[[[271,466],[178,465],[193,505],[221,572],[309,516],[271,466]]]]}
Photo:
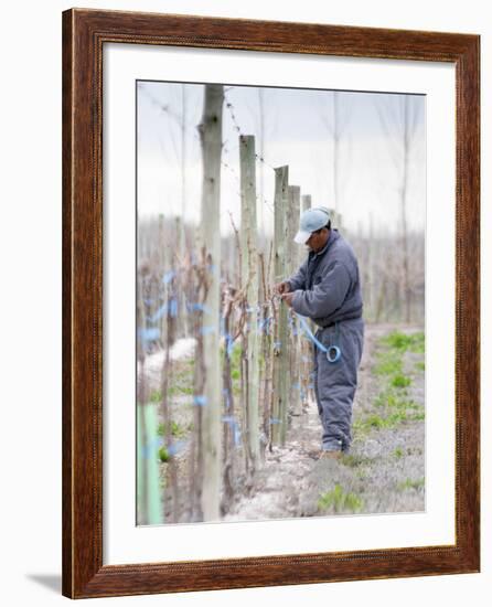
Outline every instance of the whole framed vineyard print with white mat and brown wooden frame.
{"type": "Polygon", "coordinates": [[[479,571],[479,36],[63,13],[63,594],[479,571]]]}

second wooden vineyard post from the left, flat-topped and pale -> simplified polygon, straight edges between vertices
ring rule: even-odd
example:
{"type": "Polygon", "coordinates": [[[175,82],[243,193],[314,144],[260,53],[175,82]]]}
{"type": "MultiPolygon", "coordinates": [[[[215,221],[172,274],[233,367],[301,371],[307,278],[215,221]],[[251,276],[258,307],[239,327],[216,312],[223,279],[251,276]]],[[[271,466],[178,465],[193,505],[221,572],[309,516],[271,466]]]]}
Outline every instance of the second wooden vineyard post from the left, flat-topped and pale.
{"type": "Polygon", "coordinates": [[[259,384],[259,348],[258,348],[258,233],[256,221],[256,163],[255,138],[250,135],[239,136],[240,162],[240,233],[242,233],[242,288],[246,287],[247,329],[243,340],[243,356],[246,358],[246,434],[247,451],[253,472],[259,460],[258,425],[258,384],[259,384]]]}

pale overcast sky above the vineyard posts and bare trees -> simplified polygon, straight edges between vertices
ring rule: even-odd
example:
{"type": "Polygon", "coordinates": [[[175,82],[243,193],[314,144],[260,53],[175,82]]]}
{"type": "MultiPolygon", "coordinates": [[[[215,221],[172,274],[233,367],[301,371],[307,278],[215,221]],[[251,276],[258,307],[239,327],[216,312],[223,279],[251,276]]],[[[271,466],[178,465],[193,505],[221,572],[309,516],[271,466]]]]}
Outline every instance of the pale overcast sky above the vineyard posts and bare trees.
{"type": "MultiPolygon", "coordinates": [[[[221,231],[239,222],[238,131],[256,136],[260,153],[260,87],[225,85],[221,231]],[[231,104],[227,107],[226,104],[231,104]],[[234,115],[234,117],[233,117],[234,115]]],[[[185,98],[184,216],[200,217],[202,159],[196,130],[202,84],[139,82],[137,159],[139,216],[182,214],[182,100],[185,98]]],[[[403,183],[404,95],[339,92],[340,195],[333,188],[333,92],[263,87],[264,157],[257,162],[258,221],[272,231],[274,167],[289,166],[289,183],[312,204],[336,207],[351,230],[398,227],[403,183]],[[263,182],[263,198],[260,196],[263,182]]],[[[410,95],[407,222],[424,230],[426,212],[425,97],[410,95]]]]}

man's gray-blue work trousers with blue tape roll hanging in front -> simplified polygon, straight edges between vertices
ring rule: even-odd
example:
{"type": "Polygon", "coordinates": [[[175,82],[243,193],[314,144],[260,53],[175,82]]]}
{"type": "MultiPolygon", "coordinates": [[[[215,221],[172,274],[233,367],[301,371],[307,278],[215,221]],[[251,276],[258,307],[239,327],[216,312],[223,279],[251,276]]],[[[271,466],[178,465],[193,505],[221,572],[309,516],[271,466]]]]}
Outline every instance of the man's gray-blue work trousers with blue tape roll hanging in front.
{"type": "Polygon", "coordinates": [[[338,345],[341,351],[336,362],[329,362],[327,353],[313,343],[313,384],[323,427],[321,448],[346,452],[352,441],[352,404],[364,344],[364,320],[339,322],[338,336],[336,327],[320,328],[314,336],[325,348],[338,345]]]}

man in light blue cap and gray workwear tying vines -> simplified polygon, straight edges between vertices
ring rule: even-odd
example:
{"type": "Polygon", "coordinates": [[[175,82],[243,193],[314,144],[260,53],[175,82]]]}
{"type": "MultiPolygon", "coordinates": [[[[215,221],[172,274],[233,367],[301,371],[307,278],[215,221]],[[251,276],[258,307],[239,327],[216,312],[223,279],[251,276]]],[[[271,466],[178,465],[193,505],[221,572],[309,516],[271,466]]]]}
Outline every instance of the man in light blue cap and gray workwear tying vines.
{"type": "Polygon", "coordinates": [[[330,212],[323,206],[302,213],[293,239],[307,245],[308,258],[276,290],[289,307],[319,327],[314,338],[325,347],[321,350],[313,342],[313,384],[322,424],[319,456],[339,458],[352,439],[352,404],[364,341],[357,259],[351,245],[331,227],[330,212]],[[330,362],[327,349],[333,345],[339,358],[330,362]]]}

